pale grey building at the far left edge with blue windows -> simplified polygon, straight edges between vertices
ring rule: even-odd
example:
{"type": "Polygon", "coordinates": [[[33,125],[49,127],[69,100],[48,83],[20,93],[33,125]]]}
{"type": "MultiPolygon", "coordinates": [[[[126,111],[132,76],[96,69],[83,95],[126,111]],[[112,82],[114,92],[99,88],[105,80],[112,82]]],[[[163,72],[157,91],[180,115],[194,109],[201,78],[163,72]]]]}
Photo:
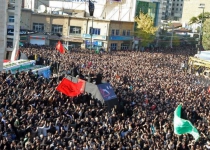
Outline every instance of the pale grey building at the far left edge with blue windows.
{"type": "MultiPolygon", "coordinates": [[[[0,61],[12,58],[19,49],[21,1],[1,0],[0,61]]],[[[2,65],[2,64],[1,64],[2,65]]],[[[0,66],[0,70],[2,67],[0,66]]]]}

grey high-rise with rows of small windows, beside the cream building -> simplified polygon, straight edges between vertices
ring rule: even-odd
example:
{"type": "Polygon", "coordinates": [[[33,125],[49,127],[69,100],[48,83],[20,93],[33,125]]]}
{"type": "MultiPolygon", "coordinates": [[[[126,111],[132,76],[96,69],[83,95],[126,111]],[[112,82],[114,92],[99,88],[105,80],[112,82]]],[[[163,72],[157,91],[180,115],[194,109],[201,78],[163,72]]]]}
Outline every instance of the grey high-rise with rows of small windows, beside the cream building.
{"type": "Polygon", "coordinates": [[[180,20],[182,18],[183,0],[173,0],[171,17],[173,20],[180,20]]]}

